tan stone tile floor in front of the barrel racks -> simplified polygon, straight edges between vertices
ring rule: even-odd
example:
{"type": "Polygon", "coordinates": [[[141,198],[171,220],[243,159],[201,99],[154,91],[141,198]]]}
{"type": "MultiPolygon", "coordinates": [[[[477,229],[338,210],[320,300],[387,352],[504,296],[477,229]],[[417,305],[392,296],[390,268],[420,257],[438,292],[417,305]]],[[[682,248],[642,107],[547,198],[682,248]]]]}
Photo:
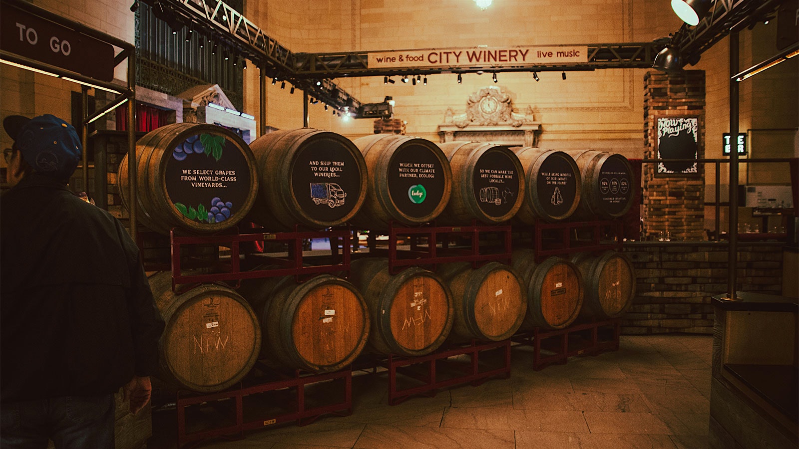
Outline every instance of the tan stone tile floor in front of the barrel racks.
{"type": "MultiPolygon", "coordinates": [[[[708,447],[712,337],[622,336],[617,352],[532,369],[511,352],[511,378],[388,405],[386,375],[353,379],[353,413],[304,427],[213,439],[203,449],[340,447],[462,449],[699,449],[708,447]]],[[[159,418],[156,418],[157,420],[159,418]]],[[[175,447],[155,425],[150,447],[175,447]],[[155,442],[155,444],[153,444],[155,442]],[[158,444],[160,443],[160,445],[158,444]]]]}

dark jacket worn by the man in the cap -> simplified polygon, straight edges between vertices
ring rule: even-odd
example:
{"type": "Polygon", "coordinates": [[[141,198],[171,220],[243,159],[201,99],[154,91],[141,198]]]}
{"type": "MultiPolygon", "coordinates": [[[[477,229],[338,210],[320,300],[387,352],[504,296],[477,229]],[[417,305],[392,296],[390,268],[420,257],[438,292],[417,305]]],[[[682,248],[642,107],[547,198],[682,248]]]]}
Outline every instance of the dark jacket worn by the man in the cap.
{"type": "Polygon", "coordinates": [[[139,250],[105,210],[33,174],[0,199],[0,402],[157,374],[164,328],[139,250]]]}

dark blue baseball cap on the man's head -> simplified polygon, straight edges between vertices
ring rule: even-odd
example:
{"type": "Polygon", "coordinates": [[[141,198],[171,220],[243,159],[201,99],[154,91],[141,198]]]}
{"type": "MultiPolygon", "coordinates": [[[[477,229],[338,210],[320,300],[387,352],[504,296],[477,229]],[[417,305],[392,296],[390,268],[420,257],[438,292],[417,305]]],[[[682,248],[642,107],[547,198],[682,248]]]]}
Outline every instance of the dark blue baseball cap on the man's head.
{"type": "Polygon", "coordinates": [[[3,128],[34,171],[66,180],[81,160],[81,139],[73,125],[49,113],[34,118],[10,115],[3,128]]]}

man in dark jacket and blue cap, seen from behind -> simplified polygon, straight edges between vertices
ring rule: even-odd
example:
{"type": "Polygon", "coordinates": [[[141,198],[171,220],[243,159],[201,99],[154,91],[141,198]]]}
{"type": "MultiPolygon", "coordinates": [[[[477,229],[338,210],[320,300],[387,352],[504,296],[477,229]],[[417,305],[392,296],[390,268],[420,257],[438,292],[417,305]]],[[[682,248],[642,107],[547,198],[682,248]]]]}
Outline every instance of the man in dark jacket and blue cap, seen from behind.
{"type": "Polygon", "coordinates": [[[113,395],[133,413],[149,402],[164,321],[121,222],[67,188],[74,127],[50,114],[3,127],[0,447],[113,448],[113,395]]]}

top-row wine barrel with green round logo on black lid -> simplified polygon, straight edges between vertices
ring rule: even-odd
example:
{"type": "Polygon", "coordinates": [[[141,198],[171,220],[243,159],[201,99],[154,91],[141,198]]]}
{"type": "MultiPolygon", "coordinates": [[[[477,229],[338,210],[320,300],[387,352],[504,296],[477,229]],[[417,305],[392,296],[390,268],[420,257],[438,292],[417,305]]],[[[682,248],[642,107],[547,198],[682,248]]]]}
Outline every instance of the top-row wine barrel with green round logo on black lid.
{"type": "Polygon", "coordinates": [[[366,160],[366,201],[352,223],[385,229],[392,221],[423,224],[447,206],[452,172],[431,141],[399,134],[375,134],[352,141],[366,160]]]}

